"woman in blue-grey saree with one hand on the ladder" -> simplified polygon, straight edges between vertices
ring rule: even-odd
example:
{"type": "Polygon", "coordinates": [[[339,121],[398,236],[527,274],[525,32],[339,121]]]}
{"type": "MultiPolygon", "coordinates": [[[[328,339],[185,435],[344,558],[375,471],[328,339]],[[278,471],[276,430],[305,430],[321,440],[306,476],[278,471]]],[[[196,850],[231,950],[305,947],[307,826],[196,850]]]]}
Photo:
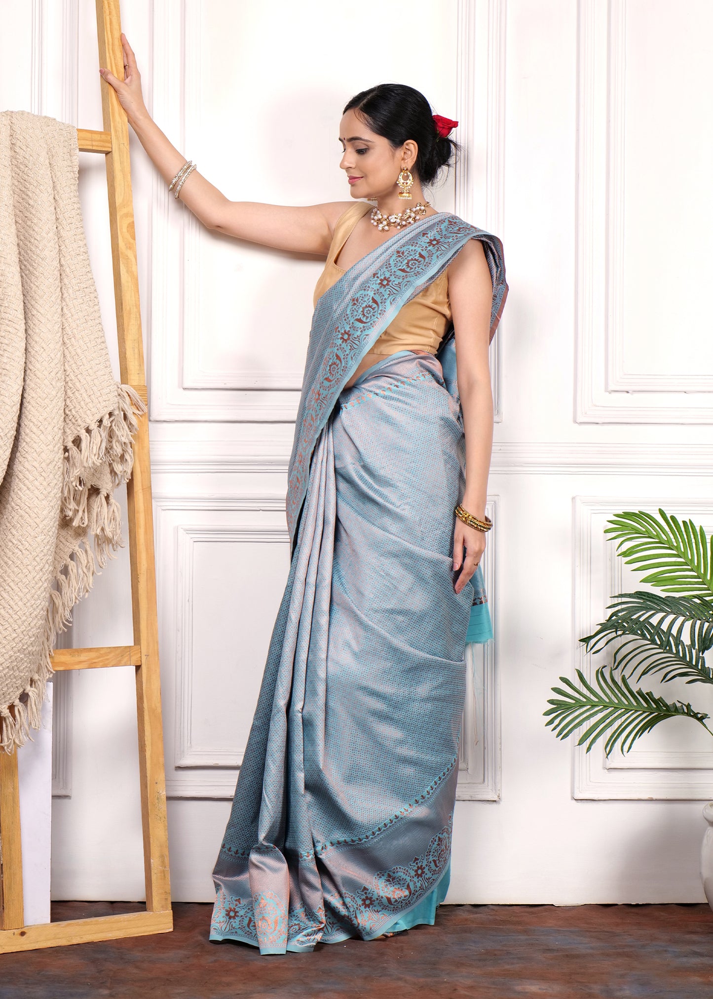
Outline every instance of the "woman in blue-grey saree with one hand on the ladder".
{"type": "Polygon", "coordinates": [[[340,165],[356,203],[231,202],[151,120],[122,41],[125,80],[100,72],[201,222],[327,260],[289,469],[290,573],[214,871],[211,939],[276,954],[432,923],[449,876],[465,642],[491,635],[479,561],[500,242],[425,201],[457,123],[410,87],[374,87],[345,109],[340,165]]]}

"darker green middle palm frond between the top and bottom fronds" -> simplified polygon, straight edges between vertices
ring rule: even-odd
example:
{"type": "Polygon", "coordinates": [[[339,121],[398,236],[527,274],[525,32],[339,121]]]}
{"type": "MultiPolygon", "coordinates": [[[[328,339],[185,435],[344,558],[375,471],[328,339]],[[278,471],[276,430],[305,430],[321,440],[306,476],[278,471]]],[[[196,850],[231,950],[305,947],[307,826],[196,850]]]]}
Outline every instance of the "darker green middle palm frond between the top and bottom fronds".
{"type": "Polygon", "coordinates": [[[687,683],[713,683],[713,670],[705,661],[705,652],[713,642],[713,625],[706,621],[670,617],[659,624],[651,620],[612,614],[594,631],[581,638],[588,652],[600,652],[617,638],[625,640],[614,650],[612,666],[641,679],[649,673],[661,673],[668,682],[684,678],[687,683]],[[690,627],[689,627],[690,625],[690,627]],[[683,631],[689,627],[689,641],[683,631]]]}

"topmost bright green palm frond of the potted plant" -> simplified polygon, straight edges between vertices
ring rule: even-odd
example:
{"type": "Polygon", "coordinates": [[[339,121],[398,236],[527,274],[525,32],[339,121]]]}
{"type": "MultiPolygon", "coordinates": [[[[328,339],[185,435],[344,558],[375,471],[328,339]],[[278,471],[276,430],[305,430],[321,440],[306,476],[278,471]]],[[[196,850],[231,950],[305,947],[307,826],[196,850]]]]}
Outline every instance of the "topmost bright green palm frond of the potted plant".
{"type": "Polygon", "coordinates": [[[605,533],[618,541],[629,565],[647,572],[644,582],[666,593],[713,593],[713,538],[692,520],[681,522],[659,509],[660,519],[644,510],[627,510],[609,520],[605,533]]]}

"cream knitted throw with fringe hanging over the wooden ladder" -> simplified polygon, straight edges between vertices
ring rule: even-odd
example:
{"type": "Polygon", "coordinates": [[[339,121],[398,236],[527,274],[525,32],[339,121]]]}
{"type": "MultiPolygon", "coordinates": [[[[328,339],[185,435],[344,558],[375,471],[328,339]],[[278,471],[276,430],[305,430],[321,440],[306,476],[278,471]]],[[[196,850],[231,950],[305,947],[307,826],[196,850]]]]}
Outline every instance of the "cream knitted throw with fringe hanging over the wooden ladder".
{"type": "Polygon", "coordinates": [[[112,375],[78,193],[77,131],[0,113],[0,746],[40,724],[50,654],[123,544],[134,412],[112,375]],[[94,542],[94,550],[92,541],[94,542]]]}

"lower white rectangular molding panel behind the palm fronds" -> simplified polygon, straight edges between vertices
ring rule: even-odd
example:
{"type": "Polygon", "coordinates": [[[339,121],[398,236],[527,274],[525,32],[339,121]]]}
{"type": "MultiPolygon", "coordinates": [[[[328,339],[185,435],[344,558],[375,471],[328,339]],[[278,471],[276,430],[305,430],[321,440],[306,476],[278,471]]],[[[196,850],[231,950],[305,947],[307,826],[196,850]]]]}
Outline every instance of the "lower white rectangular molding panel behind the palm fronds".
{"type": "MultiPolygon", "coordinates": [[[[622,583],[623,561],[615,554],[614,546],[602,530],[606,519],[622,509],[648,509],[656,512],[659,506],[679,516],[693,516],[703,522],[710,534],[713,526],[713,500],[661,499],[631,497],[574,497],[573,499],[573,640],[574,664],[587,679],[594,675],[591,655],[584,652],[578,638],[591,634],[606,615],[606,604],[611,597],[628,586],[622,583]]],[[[606,657],[601,662],[608,662],[606,657]]],[[[599,660],[597,660],[599,662],[599,660]]],[[[572,675],[574,675],[572,671],[572,675]]],[[[642,681],[654,683],[652,677],[642,681]]],[[[665,688],[667,685],[663,684],[665,688]]],[[[686,699],[705,697],[703,685],[685,687],[686,699]]],[[[676,699],[682,696],[673,687],[664,696],[676,699]]],[[[705,705],[704,705],[705,709],[705,705]]],[[[673,724],[674,722],[672,722],[673,724]]],[[[685,722],[684,722],[685,724],[685,722]]],[[[689,723],[690,724],[690,723],[689,723]]],[[[663,729],[665,726],[662,725],[663,729]]],[[[573,790],[572,796],[582,800],[708,800],[713,797],[713,757],[710,751],[700,749],[643,749],[640,743],[626,755],[612,753],[604,756],[603,744],[595,743],[589,753],[572,738],[573,790]]],[[[644,739],[644,742],[646,739],[644,739]]]]}

